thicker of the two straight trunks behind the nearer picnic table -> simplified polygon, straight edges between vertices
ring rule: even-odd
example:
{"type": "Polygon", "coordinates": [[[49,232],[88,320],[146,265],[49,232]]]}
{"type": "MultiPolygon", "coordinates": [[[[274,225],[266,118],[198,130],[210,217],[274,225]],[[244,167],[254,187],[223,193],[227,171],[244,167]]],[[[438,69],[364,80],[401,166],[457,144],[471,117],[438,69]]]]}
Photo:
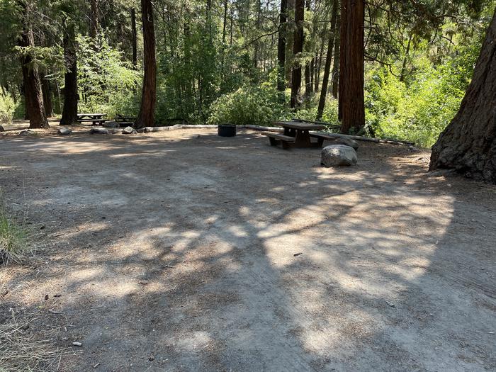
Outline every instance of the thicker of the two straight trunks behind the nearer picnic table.
{"type": "MultiPolygon", "coordinates": [[[[293,56],[301,55],[303,52],[303,21],[305,18],[305,1],[295,1],[295,36],[293,43],[293,56]]],[[[295,63],[291,74],[291,108],[298,108],[302,102],[301,98],[301,64],[295,63]]]]}

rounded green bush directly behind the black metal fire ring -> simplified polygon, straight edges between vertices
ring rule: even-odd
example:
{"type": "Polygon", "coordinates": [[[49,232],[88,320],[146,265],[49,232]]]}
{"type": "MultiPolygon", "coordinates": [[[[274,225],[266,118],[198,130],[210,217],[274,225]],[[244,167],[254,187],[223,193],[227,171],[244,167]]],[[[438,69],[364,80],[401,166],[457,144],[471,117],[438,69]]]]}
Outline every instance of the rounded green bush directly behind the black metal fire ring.
{"type": "Polygon", "coordinates": [[[211,106],[209,124],[271,125],[284,111],[272,84],[245,85],[220,96],[211,106]]]}

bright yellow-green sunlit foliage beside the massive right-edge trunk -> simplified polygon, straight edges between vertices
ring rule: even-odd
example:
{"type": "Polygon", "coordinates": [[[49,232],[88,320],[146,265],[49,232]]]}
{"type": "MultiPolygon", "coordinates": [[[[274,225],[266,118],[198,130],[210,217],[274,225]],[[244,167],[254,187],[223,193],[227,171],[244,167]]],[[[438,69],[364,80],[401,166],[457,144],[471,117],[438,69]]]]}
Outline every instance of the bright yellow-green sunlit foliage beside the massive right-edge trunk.
{"type": "Polygon", "coordinates": [[[434,144],[456,115],[473,74],[479,40],[460,46],[456,57],[436,65],[425,57],[408,81],[383,67],[366,76],[366,122],[378,137],[434,144]]]}

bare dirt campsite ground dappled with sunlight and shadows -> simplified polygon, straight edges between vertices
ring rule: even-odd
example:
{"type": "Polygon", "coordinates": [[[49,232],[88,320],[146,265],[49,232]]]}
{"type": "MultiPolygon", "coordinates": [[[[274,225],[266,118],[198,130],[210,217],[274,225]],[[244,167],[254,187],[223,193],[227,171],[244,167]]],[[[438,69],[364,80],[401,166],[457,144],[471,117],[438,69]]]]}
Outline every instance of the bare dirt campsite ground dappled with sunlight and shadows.
{"type": "Polygon", "coordinates": [[[33,316],[54,371],[494,371],[496,186],[360,145],[326,169],[250,131],[8,135],[39,247],[0,322],[33,316]]]}

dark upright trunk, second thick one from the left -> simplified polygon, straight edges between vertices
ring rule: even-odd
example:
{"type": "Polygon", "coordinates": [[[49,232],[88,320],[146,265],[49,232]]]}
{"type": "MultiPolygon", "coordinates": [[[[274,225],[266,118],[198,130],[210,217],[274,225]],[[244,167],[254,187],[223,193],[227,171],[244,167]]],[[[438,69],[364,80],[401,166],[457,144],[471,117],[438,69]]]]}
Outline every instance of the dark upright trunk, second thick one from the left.
{"type": "Polygon", "coordinates": [[[60,125],[77,124],[77,55],[74,25],[69,24],[64,30],[64,108],[60,125]]]}

